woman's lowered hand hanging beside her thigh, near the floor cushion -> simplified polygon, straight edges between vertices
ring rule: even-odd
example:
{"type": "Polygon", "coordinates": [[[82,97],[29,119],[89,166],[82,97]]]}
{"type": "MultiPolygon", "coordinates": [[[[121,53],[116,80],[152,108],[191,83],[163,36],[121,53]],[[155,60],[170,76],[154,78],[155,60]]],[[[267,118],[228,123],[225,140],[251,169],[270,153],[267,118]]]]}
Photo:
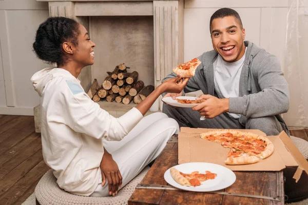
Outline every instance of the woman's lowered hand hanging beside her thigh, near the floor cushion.
{"type": "Polygon", "coordinates": [[[109,195],[118,194],[119,187],[122,186],[122,175],[120,173],[117,162],[112,159],[112,155],[109,154],[104,148],[104,155],[101,161],[101,172],[102,172],[102,187],[108,180],[109,195]]]}

